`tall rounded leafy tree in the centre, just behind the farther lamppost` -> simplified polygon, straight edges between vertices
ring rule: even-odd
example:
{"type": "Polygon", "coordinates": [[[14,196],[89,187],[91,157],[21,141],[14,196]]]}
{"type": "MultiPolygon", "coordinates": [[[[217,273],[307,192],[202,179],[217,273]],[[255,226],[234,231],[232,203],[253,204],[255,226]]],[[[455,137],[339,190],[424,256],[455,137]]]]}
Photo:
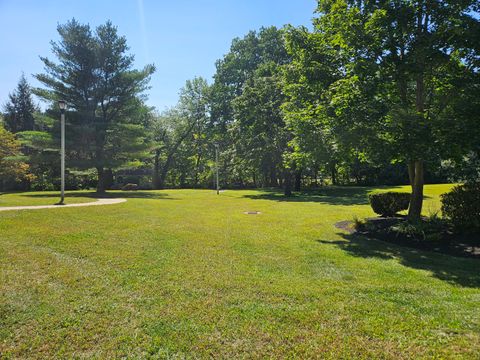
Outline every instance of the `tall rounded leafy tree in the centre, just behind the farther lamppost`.
{"type": "Polygon", "coordinates": [[[286,176],[291,136],[281,111],[281,69],[290,61],[284,32],[276,27],[234,39],[217,61],[210,94],[213,135],[232,184],[278,186],[286,176]]]}

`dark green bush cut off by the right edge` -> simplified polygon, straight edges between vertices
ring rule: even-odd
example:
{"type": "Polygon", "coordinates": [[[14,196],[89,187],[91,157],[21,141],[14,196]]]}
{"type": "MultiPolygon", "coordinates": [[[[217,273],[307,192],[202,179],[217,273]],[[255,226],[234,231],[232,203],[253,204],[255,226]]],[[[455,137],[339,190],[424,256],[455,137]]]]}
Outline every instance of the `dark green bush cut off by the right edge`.
{"type": "Polygon", "coordinates": [[[441,201],[443,216],[456,230],[480,232],[480,182],[455,186],[441,201]]]}

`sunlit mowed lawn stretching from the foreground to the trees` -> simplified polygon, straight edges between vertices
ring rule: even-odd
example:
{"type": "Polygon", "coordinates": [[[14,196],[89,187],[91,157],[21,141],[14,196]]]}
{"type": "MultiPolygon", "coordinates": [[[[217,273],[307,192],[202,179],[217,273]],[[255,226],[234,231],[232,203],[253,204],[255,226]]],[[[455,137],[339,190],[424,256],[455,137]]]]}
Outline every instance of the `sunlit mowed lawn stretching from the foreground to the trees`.
{"type": "Polygon", "coordinates": [[[0,357],[478,358],[480,262],[336,229],[371,190],[0,213],[0,357]]]}

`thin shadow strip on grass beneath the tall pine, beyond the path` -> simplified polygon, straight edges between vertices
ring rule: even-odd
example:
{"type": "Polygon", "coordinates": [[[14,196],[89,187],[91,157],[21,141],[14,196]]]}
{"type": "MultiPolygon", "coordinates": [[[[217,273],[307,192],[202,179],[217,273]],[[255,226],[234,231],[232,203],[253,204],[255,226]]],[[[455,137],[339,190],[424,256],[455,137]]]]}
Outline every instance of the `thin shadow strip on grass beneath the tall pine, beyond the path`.
{"type": "MultiPolygon", "coordinates": [[[[18,194],[19,196],[31,197],[31,198],[51,198],[52,200],[58,199],[59,194],[51,193],[36,193],[36,194],[18,194]]],[[[92,199],[110,199],[110,198],[125,198],[125,199],[153,199],[153,200],[175,200],[168,194],[159,193],[157,191],[118,191],[118,192],[106,192],[104,194],[96,193],[95,191],[89,192],[66,192],[65,199],[75,197],[86,197],[92,199]]]]}

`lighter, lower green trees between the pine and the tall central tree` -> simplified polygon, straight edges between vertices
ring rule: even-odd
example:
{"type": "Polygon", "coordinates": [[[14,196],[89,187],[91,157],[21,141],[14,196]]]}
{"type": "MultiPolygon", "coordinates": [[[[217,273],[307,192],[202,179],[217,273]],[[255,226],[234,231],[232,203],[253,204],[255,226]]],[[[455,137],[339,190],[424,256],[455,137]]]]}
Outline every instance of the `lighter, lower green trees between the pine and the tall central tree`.
{"type": "Polygon", "coordinates": [[[153,116],[149,128],[153,153],[153,186],[205,186],[212,159],[208,94],[203,78],[188,80],[178,104],[153,116]],[[168,184],[167,184],[168,183],[168,184]]]}

